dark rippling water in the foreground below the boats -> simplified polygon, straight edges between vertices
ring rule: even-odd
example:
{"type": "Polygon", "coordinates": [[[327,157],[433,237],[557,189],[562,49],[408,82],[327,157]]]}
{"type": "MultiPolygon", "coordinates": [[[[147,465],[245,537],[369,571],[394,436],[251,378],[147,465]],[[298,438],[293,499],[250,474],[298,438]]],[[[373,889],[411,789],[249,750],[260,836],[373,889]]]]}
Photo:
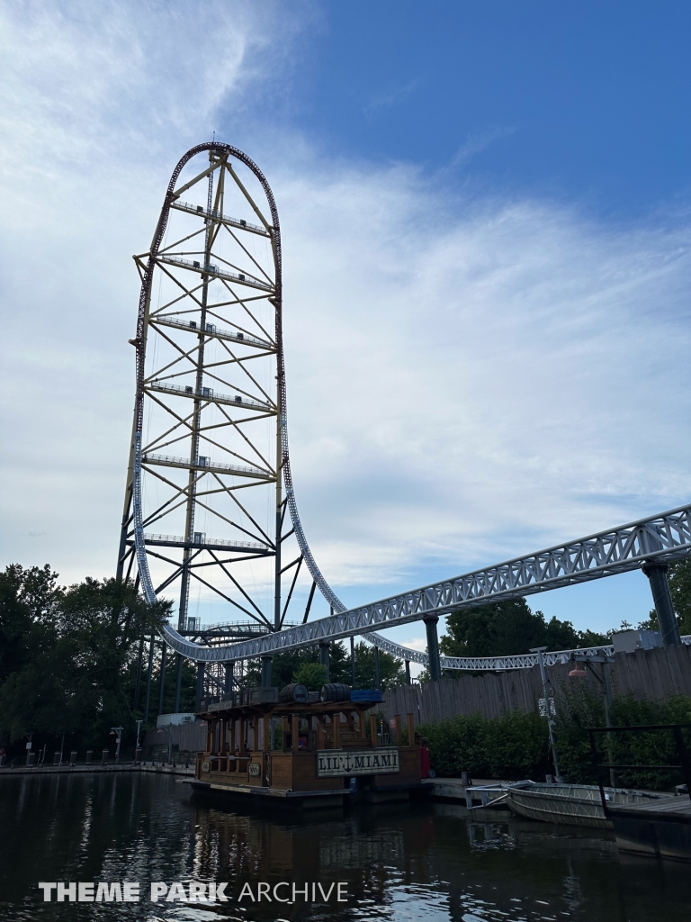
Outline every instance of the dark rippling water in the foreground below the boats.
{"type": "Polygon", "coordinates": [[[607,833],[435,804],[249,816],[169,775],[0,777],[3,919],[686,922],[690,903],[688,865],[620,857],[607,833]],[[39,881],[140,881],[142,900],[44,903],[39,881]],[[151,881],[228,881],[230,900],[154,904],[151,881]],[[238,902],[280,881],[345,881],[347,902],[238,902]]]}

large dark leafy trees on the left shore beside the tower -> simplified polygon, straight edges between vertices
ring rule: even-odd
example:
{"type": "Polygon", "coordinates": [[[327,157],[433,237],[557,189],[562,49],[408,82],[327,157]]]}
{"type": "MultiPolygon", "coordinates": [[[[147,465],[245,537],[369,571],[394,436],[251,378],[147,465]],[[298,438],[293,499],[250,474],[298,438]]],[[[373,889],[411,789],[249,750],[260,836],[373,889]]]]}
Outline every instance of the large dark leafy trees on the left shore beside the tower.
{"type": "Polygon", "coordinates": [[[0,573],[0,735],[102,743],[133,727],[129,676],[142,632],[158,631],[170,605],[148,605],[132,582],[87,579],[57,586],[49,566],[0,573]]]}

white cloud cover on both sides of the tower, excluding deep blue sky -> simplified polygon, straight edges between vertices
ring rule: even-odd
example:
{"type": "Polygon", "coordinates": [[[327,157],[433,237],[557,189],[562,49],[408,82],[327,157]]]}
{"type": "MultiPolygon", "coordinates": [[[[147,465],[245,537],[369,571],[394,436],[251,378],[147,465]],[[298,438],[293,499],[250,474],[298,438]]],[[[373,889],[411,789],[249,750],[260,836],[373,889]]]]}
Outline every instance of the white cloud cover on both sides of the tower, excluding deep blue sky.
{"type": "Polygon", "coordinates": [[[685,501],[687,224],[613,227],[310,157],[248,103],[299,28],[281,10],[0,5],[5,561],[112,570],[130,254],[172,165],[231,105],[282,216],[294,478],[339,591],[383,595],[685,501]]]}

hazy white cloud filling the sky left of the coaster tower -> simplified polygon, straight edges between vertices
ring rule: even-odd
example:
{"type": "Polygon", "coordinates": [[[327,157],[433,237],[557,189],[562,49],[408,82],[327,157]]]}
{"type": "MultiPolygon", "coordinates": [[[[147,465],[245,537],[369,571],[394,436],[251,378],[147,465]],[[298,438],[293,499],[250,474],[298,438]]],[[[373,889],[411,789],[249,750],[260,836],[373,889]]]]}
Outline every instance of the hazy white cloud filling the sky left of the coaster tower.
{"type": "Polygon", "coordinates": [[[302,8],[0,3],[5,561],[51,561],[67,580],[111,572],[132,425],[131,254],[221,103],[241,112],[271,88],[302,8]]]}

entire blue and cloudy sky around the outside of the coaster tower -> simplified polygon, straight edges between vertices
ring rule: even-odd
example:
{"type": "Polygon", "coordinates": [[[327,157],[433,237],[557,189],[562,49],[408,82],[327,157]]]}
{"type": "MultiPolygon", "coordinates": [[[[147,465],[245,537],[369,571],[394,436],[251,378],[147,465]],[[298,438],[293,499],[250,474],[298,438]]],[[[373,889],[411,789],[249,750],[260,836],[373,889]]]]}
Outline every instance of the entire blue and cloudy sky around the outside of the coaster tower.
{"type": "MultiPolygon", "coordinates": [[[[131,254],[214,131],[275,189],[296,490],[346,602],[687,502],[690,25],[664,2],[0,0],[3,561],[111,573],[131,254]]],[[[531,604],[604,629],[650,594],[633,573],[531,604]]]]}

